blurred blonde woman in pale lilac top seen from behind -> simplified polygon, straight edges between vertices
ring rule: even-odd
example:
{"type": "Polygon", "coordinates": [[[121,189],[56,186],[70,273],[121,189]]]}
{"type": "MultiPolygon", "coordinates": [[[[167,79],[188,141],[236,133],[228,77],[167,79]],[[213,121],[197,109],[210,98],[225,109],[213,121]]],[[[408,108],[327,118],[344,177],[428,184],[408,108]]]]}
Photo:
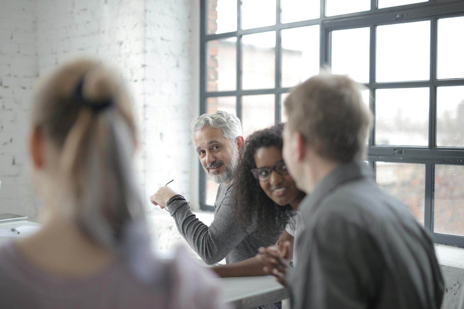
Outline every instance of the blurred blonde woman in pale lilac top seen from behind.
{"type": "Polygon", "coordinates": [[[135,123],[115,75],[74,61],[36,93],[30,157],[44,226],[0,248],[1,308],[224,308],[208,270],[150,252],[135,123]]]}

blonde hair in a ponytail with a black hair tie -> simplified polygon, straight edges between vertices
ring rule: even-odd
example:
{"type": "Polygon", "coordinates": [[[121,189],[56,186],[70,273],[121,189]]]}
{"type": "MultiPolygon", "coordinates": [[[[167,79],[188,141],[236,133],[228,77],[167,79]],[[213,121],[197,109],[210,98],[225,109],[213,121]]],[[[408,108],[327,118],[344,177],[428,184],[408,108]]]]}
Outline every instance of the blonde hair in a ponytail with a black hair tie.
{"type": "Polygon", "coordinates": [[[122,252],[140,270],[150,264],[150,244],[131,165],[135,124],[114,76],[88,60],[64,66],[39,91],[33,123],[61,151],[71,220],[91,241],[122,252]]]}

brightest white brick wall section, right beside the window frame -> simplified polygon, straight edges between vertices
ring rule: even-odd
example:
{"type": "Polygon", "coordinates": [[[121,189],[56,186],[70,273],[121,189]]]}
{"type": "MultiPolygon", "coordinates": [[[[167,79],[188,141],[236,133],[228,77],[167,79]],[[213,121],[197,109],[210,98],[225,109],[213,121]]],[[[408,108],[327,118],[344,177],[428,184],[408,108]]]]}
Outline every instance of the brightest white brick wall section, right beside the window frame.
{"type": "MultiPolygon", "coordinates": [[[[146,196],[174,179],[169,186],[194,209],[199,208],[198,158],[189,126],[200,109],[199,7],[198,0],[146,1],[146,196]]],[[[168,212],[149,210],[156,247],[185,244],[168,212]]]]}

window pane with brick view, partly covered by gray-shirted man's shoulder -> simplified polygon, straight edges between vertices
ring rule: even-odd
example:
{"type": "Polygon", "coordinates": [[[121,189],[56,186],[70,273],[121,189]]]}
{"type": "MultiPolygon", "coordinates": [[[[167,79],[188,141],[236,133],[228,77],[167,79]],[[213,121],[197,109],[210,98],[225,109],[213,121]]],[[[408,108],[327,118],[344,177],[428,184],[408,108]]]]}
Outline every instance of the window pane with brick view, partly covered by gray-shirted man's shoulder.
{"type": "Polygon", "coordinates": [[[375,178],[380,187],[405,203],[424,225],[425,165],[376,162],[375,178]]]}

